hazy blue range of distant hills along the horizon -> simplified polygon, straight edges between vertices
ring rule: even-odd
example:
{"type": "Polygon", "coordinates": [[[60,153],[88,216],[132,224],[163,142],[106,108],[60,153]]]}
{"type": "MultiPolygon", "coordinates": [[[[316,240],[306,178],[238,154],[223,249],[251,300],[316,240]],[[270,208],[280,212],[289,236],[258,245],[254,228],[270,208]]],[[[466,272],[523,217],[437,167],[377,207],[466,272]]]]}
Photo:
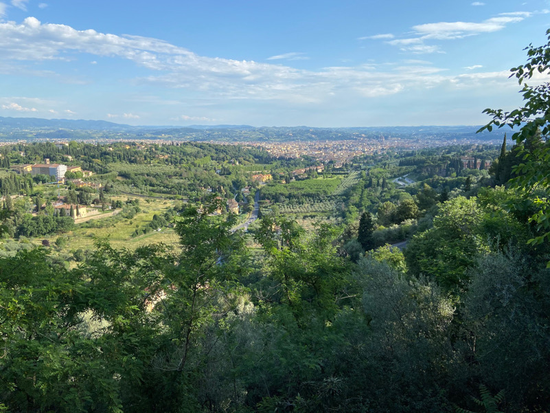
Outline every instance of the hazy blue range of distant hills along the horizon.
{"type": "Polygon", "coordinates": [[[353,139],[442,139],[468,142],[501,139],[501,131],[477,134],[480,126],[311,126],[192,125],[130,126],[104,120],[0,117],[1,140],[172,139],[196,142],[314,142],[353,139]],[[124,135],[124,136],[122,136],[124,135]]]}

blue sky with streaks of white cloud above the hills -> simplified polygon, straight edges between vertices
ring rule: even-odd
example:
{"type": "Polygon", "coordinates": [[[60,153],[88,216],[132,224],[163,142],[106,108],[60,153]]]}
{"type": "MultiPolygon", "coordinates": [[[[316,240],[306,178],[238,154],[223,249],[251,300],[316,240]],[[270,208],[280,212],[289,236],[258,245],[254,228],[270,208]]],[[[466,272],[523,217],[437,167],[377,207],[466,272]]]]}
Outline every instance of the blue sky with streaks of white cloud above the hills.
{"type": "MultiPolygon", "coordinates": [[[[0,116],[484,124],[550,1],[0,0],[0,116]]],[[[540,75],[537,82],[547,81],[540,75]]]]}

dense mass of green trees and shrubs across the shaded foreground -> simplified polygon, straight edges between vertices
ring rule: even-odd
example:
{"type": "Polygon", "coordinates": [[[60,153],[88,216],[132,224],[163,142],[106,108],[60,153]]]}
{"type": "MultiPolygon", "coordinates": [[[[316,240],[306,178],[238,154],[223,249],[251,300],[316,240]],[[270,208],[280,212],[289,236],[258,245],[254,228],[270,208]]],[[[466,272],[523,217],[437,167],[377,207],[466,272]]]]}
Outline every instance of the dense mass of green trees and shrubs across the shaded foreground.
{"type": "MultiPolygon", "coordinates": [[[[529,51],[542,69],[548,49],[529,51]]],[[[524,114],[545,90],[526,89],[524,114]]],[[[99,241],[71,270],[42,248],[0,258],[0,411],[548,412],[540,143],[527,180],[444,199],[404,255],[354,263],[334,228],[265,216],[249,256],[213,200],[181,212],[177,251],[99,241]]]]}

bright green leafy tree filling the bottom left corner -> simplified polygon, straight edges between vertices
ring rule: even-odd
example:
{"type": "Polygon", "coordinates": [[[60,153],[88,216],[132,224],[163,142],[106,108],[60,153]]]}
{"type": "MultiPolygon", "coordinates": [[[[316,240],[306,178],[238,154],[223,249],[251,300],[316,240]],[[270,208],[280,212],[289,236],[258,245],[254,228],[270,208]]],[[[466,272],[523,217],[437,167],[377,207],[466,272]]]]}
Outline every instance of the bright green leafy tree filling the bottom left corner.
{"type": "Polygon", "coordinates": [[[88,298],[102,300],[45,249],[0,258],[0,398],[8,411],[119,410],[117,363],[78,328],[88,298]]]}

